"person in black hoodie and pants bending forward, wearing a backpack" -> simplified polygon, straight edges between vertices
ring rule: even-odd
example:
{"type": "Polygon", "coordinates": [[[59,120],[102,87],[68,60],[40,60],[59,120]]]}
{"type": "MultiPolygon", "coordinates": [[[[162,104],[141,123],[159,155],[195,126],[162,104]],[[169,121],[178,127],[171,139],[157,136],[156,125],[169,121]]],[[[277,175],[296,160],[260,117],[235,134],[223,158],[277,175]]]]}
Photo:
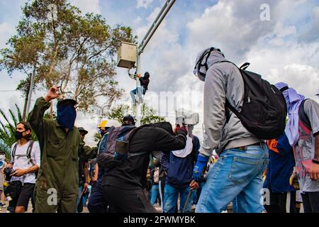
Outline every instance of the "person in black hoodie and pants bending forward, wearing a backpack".
{"type": "Polygon", "coordinates": [[[186,129],[181,128],[173,135],[172,125],[168,122],[140,126],[128,145],[129,153],[147,151],[142,155],[128,157],[121,165],[113,167],[103,175],[103,195],[111,212],[115,213],[155,213],[145,195],[147,167],[153,150],[182,149],[186,145],[186,129]]]}

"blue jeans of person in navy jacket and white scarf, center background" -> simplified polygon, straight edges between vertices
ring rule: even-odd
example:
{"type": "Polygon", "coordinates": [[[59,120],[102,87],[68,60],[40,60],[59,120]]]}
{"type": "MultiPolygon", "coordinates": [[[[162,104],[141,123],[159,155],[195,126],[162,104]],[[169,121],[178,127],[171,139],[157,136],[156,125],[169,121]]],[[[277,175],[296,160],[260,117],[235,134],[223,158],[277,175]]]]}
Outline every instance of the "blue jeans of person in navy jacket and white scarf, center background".
{"type": "MultiPolygon", "coordinates": [[[[180,196],[180,204],[179,204],[179,211],[184,210],[184,206],[187,200],[187,196],[189,196],[190,187],[184,188],[175,188],[170,186],[168,183],[165,184],[164,188],[164,210],[163,213],[174,213],[176,211],[177,206],[177,199],[180,196]]],[[[191,196],[187,203],[185,212],[191,212],[191,196]]]]}

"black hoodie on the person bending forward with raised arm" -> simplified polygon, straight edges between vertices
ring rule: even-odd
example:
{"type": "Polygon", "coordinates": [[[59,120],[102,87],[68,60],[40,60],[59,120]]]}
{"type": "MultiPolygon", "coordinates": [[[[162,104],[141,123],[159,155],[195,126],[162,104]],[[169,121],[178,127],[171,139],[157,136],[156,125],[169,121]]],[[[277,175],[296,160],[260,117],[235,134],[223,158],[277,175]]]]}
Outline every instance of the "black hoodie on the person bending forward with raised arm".
{"type": "Polygon", "coordinates": [[[130,139],[129,152],[143,155],[132,156],[121,165],[114,167],[103,175],[103,186],[113,186],[120,189],[142,189],[147,183],[147,167],[150,162],[150,153],[161,150],[169,153],[171,150],[183,149],[186,145],[186,133],[179,132],[172,135],[170,123],[155,123],[140,126],[140,129],[130,139]]]}

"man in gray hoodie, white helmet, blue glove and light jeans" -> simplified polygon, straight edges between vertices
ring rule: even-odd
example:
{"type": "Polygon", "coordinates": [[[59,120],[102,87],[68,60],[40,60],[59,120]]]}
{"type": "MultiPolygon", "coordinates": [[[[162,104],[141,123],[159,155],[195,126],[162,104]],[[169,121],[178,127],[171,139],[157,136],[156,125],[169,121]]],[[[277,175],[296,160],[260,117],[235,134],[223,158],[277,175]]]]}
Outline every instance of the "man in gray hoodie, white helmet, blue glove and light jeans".
{"type": "Polygon", "coordinates": [[[235,212],[260,213],[262,172],[268,162],[267,146],[225,108],[227,99],[237,111],[242,109],[242,75],[216,48],[199,53],[194,74],[205,82],[205,135],[194,167],[195,181],[201,181],[213,150],[219,155],[208,171],[196,212],[218,213],[235,199],[235,212]]]}

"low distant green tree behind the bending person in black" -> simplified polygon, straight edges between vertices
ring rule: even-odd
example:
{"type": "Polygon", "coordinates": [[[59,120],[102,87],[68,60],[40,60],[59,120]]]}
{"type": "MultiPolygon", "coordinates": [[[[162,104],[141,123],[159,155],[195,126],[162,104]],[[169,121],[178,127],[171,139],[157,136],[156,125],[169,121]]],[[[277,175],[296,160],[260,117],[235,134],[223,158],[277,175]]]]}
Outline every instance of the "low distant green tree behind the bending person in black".
{"type": "MultiPolygon", "coordinates": [[[[140,123],[142,125],[147,123],[157,123],[164,121],[165,118],[162,116],[157,116],[155,109],[152,109],[150,106],[147,106],[147,104],[142,104],[141,106],[141,113],[142,118],[140,123]]],[[[108,113],[106,113],[106,118],[114,119],[118,122],[122,122],[123,117],[125,115],[135,115],[135,109],[132,106],[128,106],[126,104],[120,104],[118,106],[113,107],[108,113]]],[[[94,141],[98,142],[101,139],[101,135],[99,133],[96,133],[94,135],[94,141]]]]}

